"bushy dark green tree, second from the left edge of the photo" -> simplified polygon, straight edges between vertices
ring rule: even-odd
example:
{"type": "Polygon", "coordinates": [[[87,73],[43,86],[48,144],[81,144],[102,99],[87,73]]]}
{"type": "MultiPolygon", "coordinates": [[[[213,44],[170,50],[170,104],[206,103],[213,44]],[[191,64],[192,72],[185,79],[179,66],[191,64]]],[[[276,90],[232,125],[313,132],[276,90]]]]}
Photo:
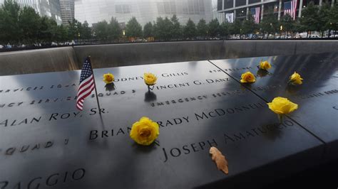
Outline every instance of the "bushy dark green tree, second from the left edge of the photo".
{"type": "Polygon", "coordinates": [[[19,27],[21,29],[23,42],[26,44],[33,44],[38,39],[40,16],[36,11],[25,6],[19,13],[19,27]]]}

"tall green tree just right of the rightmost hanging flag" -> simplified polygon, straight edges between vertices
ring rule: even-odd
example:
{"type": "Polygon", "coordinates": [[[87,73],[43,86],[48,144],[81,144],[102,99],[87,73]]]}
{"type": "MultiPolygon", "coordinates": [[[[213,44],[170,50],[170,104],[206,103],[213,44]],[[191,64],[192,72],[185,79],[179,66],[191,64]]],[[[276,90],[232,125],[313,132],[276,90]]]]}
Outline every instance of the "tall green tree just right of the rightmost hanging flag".
{"type": "Polygon", "coordinates": [[[313,1],[310,1],[306,8],[302,10],[302,18],[299,18],[299,23],[304,31],[307,31],[307,36],[311,35],[311,31],[319,31],[319,8],[315,6],[313,1]]]}

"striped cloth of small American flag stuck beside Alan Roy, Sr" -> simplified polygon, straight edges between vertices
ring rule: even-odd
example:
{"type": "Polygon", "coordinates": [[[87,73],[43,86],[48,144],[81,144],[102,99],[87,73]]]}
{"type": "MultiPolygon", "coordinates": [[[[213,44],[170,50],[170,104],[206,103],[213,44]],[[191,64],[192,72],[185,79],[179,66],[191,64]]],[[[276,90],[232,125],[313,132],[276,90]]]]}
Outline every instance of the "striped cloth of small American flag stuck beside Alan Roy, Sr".
{"type": "Polygon", "coordinates": [[[78,87],[78,95],[76,98],[76,107],[78,110],[83,109],[83,102],[88,95],[91,95],[91,92],[95,88],[93,69],[91,68],[91,59],[86,58],[83,63],[81,76],[80,76],[80,86],[78,87]]]}

